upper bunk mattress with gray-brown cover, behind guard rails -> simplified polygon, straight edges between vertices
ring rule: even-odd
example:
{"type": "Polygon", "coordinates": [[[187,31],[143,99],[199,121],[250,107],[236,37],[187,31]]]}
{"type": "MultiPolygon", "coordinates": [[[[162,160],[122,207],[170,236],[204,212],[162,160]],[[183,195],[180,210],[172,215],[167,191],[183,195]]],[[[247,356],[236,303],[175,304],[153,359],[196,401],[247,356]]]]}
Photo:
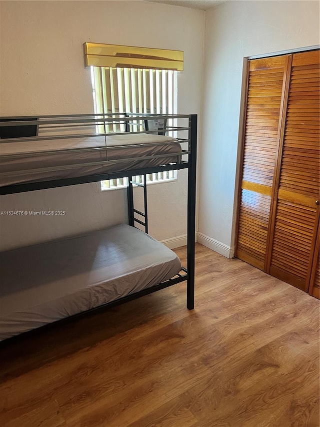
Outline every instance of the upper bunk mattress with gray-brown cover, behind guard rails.
{"type": "Polygon", "coordinates": [[[3,142],[0,186],[150,168],[180,158],[175,138],[153,134],[3,142]]]}

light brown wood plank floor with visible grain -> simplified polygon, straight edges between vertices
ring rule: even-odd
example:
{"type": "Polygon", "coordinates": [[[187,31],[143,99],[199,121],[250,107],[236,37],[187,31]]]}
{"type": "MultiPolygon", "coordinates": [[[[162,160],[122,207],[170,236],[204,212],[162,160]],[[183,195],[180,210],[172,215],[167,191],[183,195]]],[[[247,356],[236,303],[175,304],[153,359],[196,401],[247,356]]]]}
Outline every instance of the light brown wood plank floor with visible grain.
{"type": "Polygon", "coordinates": [[[1,349],[0,426],[318,427],[318,327],[316,299],[197,244],[195,310],[179,284],[1,349]]]}

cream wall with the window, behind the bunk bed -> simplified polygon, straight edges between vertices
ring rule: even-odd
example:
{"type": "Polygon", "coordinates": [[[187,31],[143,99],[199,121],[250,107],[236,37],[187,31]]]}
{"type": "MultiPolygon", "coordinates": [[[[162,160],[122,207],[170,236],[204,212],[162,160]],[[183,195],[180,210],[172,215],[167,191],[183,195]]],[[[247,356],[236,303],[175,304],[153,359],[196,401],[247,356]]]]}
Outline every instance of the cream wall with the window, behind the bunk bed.
{"type": "MultiPolygon", "coordinates": [[[[200,112],[203,11],[135,1],[0,2],[0,115],[93,112],[84,42],[184,51],[178,112],[200,112]]],[[[151,185],[150,233],[186,234],[186,174],[151,185]]],[[[0,211],[63,210],[64,217],[0,217],[1,250],[126,221],[124,190],[99,183],[0,197],[0,211]]]]}

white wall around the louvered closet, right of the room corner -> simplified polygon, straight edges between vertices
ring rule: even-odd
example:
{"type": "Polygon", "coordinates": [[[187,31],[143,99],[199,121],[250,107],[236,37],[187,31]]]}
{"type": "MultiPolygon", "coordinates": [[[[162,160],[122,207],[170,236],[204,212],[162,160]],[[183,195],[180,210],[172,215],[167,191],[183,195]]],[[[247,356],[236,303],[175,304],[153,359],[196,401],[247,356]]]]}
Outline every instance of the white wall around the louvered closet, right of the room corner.
{"type": "Polygon", "coordinates": [[[223,255],[235,219],[243,58],[318,44],[316,1],[231,1],[206,12],[197,239],[223,255]]]}

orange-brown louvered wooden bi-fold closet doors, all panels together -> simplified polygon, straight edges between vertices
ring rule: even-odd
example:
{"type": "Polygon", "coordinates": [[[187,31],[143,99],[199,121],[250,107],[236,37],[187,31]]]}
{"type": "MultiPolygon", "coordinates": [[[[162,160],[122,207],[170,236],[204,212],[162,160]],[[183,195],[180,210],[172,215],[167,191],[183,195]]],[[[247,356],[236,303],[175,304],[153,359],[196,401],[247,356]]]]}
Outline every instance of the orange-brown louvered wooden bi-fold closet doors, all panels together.
{"type": "Polygon", "coordinates": [[[249,61],[236,256],[319,294],[319,51],[249,61]]]}

